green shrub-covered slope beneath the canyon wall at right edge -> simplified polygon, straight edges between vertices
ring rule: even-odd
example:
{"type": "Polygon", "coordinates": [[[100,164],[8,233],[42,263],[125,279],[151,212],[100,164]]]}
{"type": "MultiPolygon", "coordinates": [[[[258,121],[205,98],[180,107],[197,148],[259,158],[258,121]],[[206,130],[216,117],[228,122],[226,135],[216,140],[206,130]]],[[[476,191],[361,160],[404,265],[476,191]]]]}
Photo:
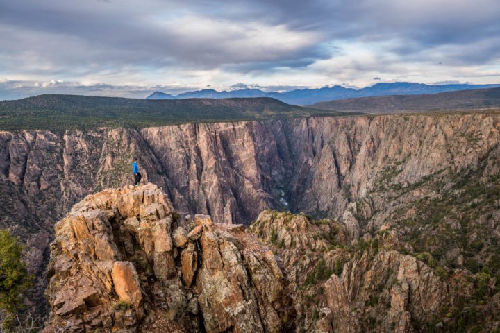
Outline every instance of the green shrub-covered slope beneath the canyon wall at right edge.
{"type": "MultiPolygon", "coordinates": [[[[474,147],[478,135],[471,132],[463,137],[467,140],[465,144],[474,147]]],[[[395,171],[386,168],[378,174],[378,187],[369,193],[377,198],[385,196],[388,201],[402,198],[403,204],[395,208],[386,221],[393,224],[392,228],[414,249],[418,259],[435,268],[435,273],[442,278],[448,275],[442,267],[463,267],[472,273],[487,267],[492,276],[500,278],[500,242],[487,231],[498,209],[500,177],[484,176],[485,166],[490,163],[488,155],[479,161],[477,169],[458,172],[440,169],[398,188],[392,186],[395,171]],[[404,203],[415,189],[427,195],[404,203]],[[457,255],[450,255],[452,251],[463,258],[463,266],[458,264],[457,255]]],[[[364,221],[362,211],[353,212],[360,225],[364,221]]]]}

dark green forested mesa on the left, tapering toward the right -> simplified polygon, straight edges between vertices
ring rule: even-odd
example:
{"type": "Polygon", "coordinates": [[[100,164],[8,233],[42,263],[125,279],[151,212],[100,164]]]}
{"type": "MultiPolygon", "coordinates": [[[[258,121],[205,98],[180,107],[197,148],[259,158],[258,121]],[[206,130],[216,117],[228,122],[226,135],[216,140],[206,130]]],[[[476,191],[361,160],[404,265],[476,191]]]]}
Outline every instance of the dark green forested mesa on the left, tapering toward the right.
{"type": "Polygon", "coordinates": [[[346,115],[301,108],[276,99],[145,100],[44,94],[0,101],[0,130],[165,126],[178,123],[250,121],[346,115]]]}

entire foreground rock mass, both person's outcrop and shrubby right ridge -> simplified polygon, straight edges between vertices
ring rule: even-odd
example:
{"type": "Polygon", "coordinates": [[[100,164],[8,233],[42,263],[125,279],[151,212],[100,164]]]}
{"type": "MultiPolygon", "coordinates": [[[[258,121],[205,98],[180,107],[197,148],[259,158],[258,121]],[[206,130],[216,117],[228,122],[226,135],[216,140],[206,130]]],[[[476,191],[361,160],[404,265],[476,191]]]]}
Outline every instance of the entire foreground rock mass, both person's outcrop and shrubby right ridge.
{"type": "Polygon", "coordinates": [[[496,278],[350,229],[266,210],[245,230],[181,219],[156,185],[103,190],[56,223],[44,332],[500,329],[496,278]]]}

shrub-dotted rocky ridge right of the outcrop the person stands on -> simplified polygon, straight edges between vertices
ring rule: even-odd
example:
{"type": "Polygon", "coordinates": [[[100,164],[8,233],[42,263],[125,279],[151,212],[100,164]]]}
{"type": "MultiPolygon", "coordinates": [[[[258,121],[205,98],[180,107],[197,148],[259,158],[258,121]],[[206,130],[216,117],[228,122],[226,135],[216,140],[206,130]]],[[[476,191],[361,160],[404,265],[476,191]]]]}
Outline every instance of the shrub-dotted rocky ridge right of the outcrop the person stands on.
{"type": "Polygon", "coordinates": [[[430,253],[403,254],[408,250],[393,230],[351,242],[349,228],[338,221],[267,210],[249,231],[283,257],[297,332],[493,332],[500,327],[495,278],[436,266],[430,253]]]}

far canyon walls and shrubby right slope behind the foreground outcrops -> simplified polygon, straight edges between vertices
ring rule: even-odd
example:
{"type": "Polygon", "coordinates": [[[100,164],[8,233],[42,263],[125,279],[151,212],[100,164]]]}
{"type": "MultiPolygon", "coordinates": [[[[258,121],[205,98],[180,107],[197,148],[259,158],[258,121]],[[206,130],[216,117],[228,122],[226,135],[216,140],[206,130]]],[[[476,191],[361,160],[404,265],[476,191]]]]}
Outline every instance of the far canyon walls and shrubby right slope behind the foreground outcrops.
{"type": "MultiPolygon", "coordinates": [[[[24,237],[43,288],[54,221],[87,194],[130,184],[137,155],[183,214],[245,225],[268,208],[334,218],[347,246],[388,230],[407,253],[494,276],[499,128],[498,112],[482,112],[0,132],[0,225],[24,237]]],[[[31,300],[44,304],[41,293],[31,300]]]]}

